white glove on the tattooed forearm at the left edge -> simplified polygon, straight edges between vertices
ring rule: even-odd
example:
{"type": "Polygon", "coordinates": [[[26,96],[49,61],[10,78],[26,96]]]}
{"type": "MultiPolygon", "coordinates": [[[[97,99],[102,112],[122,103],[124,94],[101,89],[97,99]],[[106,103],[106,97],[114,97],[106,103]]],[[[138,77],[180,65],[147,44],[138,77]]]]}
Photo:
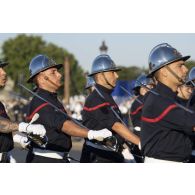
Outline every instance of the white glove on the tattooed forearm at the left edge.
{"type": "Polygon", "coordinates": [[[29,124],[29,123],[24,123],[24,122],[21,122],[19,124],[19,128],[18,130],[20,132],[25,132],[25,133],[32,133],[34,135],[40,135],[41,137],[44,137],[44,135],[46,134],[46,130],[45,130],[45,127],[43,125],[40,125],[40,124],[29,124]]]}

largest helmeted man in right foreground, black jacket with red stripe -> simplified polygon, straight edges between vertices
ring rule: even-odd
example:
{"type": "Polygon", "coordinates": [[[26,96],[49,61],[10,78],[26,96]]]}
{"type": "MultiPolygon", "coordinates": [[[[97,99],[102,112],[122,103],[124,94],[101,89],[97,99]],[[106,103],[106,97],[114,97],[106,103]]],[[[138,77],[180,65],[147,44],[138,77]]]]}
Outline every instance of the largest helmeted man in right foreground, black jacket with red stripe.
{"type": "Polygon", "coordinates": [[[177,88],[185,82],[188,69],[182,56],[167,43],[149,55],[150,76],[158,81],[142,109],[141,148],[146,163],[186,162],[192,152],[189,138],[195,131],[195,114],[176,104],[177,88]]]}

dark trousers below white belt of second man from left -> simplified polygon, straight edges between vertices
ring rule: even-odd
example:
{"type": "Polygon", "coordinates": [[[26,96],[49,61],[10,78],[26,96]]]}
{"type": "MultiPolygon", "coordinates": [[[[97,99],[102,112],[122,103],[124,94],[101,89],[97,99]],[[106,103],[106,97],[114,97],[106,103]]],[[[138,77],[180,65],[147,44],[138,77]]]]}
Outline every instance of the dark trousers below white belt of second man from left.
{"type": "Polygon", "coordinates": [[[67,158],[65,159],[55,159],[55,158],[48,158],[44,156],[34,155],[32,152],[28,152],[26,157],[27,163],[69,163],[67,158]]]}

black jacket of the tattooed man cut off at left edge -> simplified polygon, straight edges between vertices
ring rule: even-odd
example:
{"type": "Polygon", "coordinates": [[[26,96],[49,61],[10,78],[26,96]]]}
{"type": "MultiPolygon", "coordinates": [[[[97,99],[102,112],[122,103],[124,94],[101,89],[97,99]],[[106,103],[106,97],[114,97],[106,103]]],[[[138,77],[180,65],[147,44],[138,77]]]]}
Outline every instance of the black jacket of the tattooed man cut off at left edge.
{"type": "MultiPolygon", "coordinates": [[[[4,105],[0,102],[0,116],[9,119],[4,105]]],[[[0,133],[0,152],[9,152],[13,149],[12,133],[0,133]]]]}

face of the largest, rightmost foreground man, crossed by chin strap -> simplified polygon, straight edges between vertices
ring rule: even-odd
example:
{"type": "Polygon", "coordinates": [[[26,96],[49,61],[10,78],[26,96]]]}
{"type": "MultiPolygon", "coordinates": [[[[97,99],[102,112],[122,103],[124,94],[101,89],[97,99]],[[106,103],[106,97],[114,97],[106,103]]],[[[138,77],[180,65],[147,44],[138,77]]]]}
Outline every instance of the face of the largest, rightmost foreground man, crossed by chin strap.
{"type": "MultiPolygon", "coordinates": [[[[187,73],[188,73],[188,68],[185,66],[185,63],[183,60],[171,63],[168,65],[169,68],[183,81],[186,79],[187,73]]],[[[167,71],[167,78],[173,82],[176,85],[182,84],[181,81],[179,81],[171,72],[167,71]]]]}

